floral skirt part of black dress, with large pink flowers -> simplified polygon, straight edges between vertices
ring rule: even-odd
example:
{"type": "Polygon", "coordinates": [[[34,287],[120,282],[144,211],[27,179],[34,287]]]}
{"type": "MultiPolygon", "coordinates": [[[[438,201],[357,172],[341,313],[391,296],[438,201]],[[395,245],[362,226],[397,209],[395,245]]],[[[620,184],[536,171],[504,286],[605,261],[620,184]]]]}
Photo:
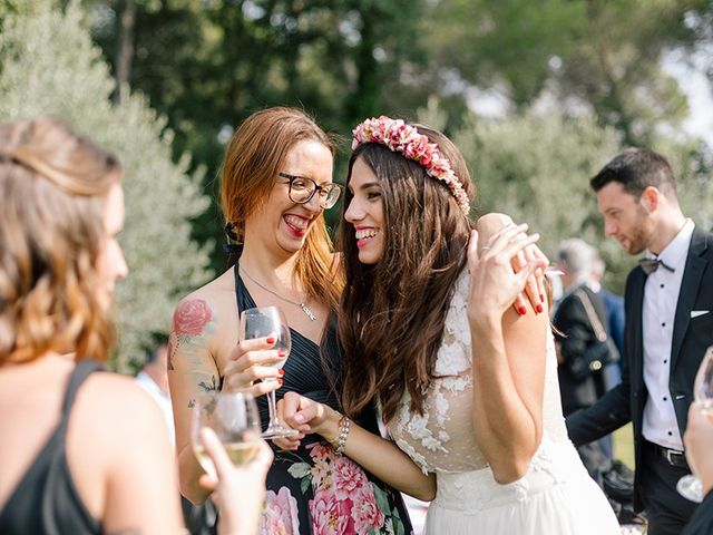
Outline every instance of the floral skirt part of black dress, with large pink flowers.
{"type": "Polygon", "coordinates": [[[275,451],[261,535],[411,535],[401,495],[326,442],[275,451]]]}

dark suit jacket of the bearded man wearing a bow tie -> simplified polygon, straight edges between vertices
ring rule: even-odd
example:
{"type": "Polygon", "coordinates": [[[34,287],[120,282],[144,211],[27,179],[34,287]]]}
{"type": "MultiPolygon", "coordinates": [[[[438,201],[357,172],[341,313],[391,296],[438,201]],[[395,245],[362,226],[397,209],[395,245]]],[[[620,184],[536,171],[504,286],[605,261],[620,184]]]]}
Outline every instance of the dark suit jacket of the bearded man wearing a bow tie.
{"type": "MultiPolygon", "coordinates": [[[[624,295],[626,328],[622,382],[588,409],[567,418],[569,438],[575,445],[587,444],[618,429],[628,421],[634,427],[634,507],[642,510],[646,500],[641,486],[643,451],[642,424],[648,396],[644,385],[642,309],[646,274],[635,268],[626,280],[624,295]]],[[[713,235],[697,226],[693,231],[686,256],[681,293],[676,304],[671,348],[668,389],[673,398],[681,436],[685,432],[688,406],[693,400],[693,381],[701,359],[713,346],[713,235]],[[691,311],[710,311],[691,318],[691,311]]]]}

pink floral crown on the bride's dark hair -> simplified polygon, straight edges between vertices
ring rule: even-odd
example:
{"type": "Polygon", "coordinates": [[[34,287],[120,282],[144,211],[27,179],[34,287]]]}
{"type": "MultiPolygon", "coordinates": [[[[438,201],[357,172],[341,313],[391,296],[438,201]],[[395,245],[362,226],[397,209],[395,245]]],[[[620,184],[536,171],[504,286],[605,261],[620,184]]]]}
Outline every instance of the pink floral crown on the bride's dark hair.
{"type": "Polygon", "coordinates": [[[364,143],[385,145],[389,150],[401,153],[404,157],[418,162],[429,176],[446,184],[463,214],[470,214],[470,200],[450,162],[440,154],[438,145],[419,134],[416,126],[384,115],[379,118],[372,117],[352,130],[352,150],[364,143]]]}

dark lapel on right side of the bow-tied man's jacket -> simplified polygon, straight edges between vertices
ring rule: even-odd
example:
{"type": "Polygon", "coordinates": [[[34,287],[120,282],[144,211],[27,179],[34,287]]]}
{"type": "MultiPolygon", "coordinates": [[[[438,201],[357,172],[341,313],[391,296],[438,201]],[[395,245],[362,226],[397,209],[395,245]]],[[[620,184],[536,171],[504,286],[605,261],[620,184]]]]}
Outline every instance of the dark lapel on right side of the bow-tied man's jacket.
{"type": "Polygon", "coordinates": [[[695,305],[695,298],[701,288],[703,272],[707,261],[701,255],[707,249],[706,234],[697,226],[693,230],[691,236],[691,246],[686,257],[686,265],[681,281],[681,292],[678,293],[678,302],[676,304],[676,315],[673,323],[673,339],[671,343],[671,369],[673,370],[681,352],[681,346],[688,323],[691,322],[691,311],[695,305]]]}

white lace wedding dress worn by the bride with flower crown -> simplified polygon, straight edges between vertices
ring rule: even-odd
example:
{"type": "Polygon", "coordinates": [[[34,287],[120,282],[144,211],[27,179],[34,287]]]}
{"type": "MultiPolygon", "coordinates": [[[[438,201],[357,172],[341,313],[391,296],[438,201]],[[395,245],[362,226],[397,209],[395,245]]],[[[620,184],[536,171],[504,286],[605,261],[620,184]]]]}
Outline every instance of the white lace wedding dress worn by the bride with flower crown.
{"type": "MultiPolygon", "coordinates": [[[[604,494],[567,438],[551,337],[547,348],[544,434],[527,474],[500,485],[471,426],[471,340],[468,271],[459,276],[423,416],[409,411],[408,393],[388,428],[399,447],[438,490],[426,519],[428,535],[608,535],[619,527],[604,494]]],[[[476,346],[477,348],[477,346],[476,346]]]]}

